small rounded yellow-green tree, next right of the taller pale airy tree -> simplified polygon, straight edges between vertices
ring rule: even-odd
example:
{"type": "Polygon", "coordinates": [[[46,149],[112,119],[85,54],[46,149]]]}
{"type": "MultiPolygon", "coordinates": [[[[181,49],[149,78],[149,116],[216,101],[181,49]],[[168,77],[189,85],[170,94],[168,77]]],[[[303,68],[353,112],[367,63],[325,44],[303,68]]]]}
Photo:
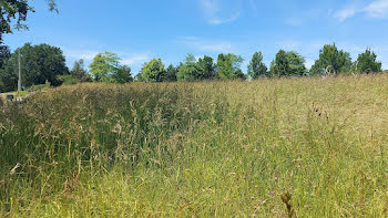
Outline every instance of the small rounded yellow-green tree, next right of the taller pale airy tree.
{"type": "Polygon", "coordinates": [[[145,82],[162,82],[164,74],[164,64],[161,59],[153,59],[149,63],[144,63],[141,73],[140,80],[145,82]]]}

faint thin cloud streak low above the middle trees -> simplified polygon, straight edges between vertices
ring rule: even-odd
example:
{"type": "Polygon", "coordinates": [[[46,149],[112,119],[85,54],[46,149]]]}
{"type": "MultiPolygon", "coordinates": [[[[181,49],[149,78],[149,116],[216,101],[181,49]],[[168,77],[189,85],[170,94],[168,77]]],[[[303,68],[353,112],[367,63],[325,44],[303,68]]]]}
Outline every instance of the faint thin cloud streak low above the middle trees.
{"type": "Polygon", "coordinates": [[[228,41],[210,41],[196,37],[185,37],[177,39],[176,42],[203,52],[227,53],[232,50],[232,43],[228,41]]]}

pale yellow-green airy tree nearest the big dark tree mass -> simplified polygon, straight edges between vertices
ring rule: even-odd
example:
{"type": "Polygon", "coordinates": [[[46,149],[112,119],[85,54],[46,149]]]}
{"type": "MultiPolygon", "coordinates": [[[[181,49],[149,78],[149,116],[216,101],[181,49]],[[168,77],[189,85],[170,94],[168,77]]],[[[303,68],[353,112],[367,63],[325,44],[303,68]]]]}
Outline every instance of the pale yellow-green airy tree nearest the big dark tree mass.
{"type": "Polygon", "coordinates": [[[133,81],[131,68],[120,65],[120,58],[112,52],[99,53],[89,65],[95,82],[125,83],[133,81]]]}

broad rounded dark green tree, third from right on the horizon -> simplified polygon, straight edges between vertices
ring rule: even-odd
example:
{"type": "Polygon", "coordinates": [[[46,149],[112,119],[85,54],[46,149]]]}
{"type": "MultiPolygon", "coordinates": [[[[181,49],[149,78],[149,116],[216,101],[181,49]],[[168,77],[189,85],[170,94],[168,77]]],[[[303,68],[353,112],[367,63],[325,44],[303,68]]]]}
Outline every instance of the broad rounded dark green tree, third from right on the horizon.
{"type": "Polygon", "coordinates": [[[279,50],[270,63],[272,76],[300,76],[307,72],[305,59],[295,51],[279,50]]]}

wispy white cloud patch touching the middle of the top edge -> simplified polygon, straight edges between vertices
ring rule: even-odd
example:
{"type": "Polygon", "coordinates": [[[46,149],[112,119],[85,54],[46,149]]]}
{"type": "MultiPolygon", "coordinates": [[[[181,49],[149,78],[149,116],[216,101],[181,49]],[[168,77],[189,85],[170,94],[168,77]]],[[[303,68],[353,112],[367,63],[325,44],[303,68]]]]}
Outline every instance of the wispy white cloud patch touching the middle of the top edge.
{"type": "Polygon", "coordinates": [[[241,15],[241,0],[198,0],[210,24],[229,23],[241,15]],[[227,2],[225,2],[227,1],[227,2]]]}

